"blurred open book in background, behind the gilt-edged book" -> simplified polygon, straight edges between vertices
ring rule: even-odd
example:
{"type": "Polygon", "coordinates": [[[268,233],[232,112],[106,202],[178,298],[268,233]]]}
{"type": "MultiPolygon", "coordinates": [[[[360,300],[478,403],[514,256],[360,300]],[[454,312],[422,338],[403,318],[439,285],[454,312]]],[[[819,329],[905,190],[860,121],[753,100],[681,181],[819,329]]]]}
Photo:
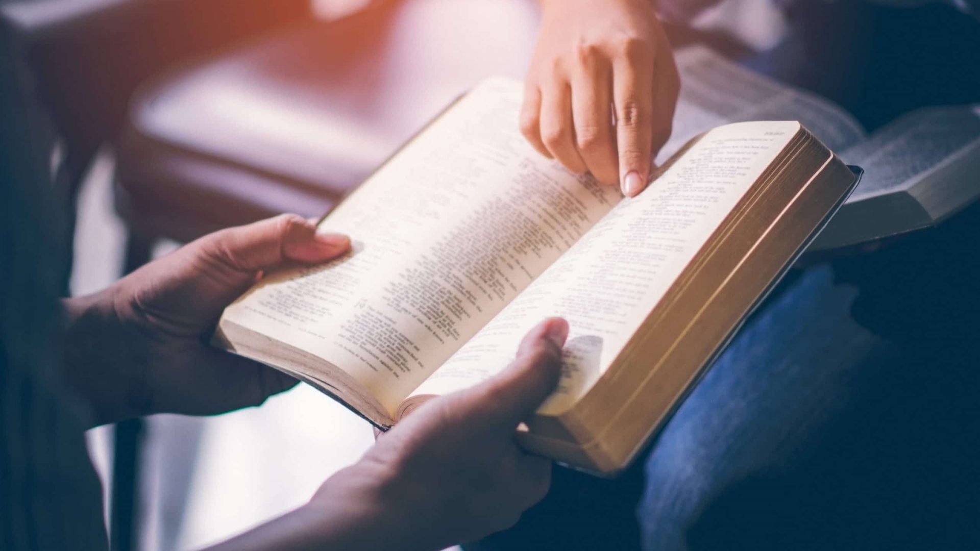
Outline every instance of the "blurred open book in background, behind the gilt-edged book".
{"type": "Polygon", "coordinates": [[[850,114],[809,92],[739,67],[705,47],[677,53],[681,94],[659,161],[691,137],[737,121],[798,120],[850,165],[858,189],[810,250],[929,227],[980,197],[980,105],[923,108],[868,135],[850,114]]]}

